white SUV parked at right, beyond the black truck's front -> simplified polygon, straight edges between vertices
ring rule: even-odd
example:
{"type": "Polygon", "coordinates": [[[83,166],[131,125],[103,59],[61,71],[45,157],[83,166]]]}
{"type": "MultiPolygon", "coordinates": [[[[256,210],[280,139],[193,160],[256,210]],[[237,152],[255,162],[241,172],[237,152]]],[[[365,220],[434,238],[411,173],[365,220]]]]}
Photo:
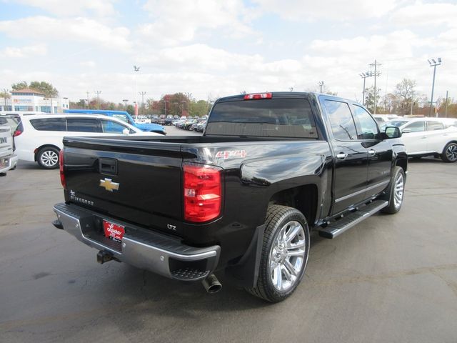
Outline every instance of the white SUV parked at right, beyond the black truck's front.
{"type": "Polygon", "coordinates": [[[400,119],[388,121],[386,126],[401,129],[408,156],[436,156],[445,162],[457,161],[457,119],[400,119]]]}

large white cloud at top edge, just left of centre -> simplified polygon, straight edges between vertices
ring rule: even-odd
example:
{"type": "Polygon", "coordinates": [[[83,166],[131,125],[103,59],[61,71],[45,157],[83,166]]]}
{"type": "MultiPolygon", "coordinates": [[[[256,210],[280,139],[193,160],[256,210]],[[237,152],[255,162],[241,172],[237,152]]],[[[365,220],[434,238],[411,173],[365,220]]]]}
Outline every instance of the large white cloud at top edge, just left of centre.
{"type": "Polygon", "coordinates": [[[139,26],[139,33],[162,45],[192,41],[197,33],[209,36],[216,29],[223,29],[226,36],[232,37],[253,34],[241,0],[149,0],[144,9],[153,22],[139,26]]]}

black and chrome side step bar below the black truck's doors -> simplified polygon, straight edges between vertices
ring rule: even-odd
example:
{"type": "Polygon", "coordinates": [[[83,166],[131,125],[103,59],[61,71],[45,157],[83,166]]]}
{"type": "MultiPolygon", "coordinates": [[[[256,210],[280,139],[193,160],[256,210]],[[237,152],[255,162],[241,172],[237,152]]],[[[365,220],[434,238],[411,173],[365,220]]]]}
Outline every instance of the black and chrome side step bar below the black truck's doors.
{"type": "Polygon", "coordinates": [[[380,209],[383,209],[388,205],[388,202],[384,200],[375,200],[371,204],[358,209],[356,212],[346,215],[345,217],[338,219],[336,222],[331,223],[327,227],[319,230],[319,236],[332,239],[342,234],[348,229],[351,229],[354,225],[360,223],[364,219],[367,219],[372,214],[375,214],[380,209]]]}

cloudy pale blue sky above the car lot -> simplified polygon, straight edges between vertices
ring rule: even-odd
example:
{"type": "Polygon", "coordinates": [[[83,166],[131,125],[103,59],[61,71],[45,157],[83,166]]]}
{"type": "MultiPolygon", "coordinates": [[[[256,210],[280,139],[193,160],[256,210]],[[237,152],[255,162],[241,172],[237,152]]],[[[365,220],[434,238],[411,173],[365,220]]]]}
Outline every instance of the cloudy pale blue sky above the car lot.
{"type": "MultiPolygon", "coordinates": [[[[0,89],[49,81],[71,100],[318,90],[361,101],[358,74],[457,98],[457,1],[0,0],[0,89]],[[140,66],[137,75],[133,66],[140,66]]],[[[366,79],[367,86],[373,78],[366,79]]]]}

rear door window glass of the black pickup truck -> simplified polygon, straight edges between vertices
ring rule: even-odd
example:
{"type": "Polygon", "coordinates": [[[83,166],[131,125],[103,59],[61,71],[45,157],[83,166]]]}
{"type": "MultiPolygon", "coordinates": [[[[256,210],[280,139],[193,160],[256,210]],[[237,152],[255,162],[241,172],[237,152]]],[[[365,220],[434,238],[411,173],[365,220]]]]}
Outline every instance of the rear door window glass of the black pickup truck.
{"type": "Polygon", "coordinates": [[[356,139],[356,125],[354,124],[349,105],[346,102],[334,100],[326,100],[323,104],[331,122],[333,137],[343,141],[356,139]]]}

